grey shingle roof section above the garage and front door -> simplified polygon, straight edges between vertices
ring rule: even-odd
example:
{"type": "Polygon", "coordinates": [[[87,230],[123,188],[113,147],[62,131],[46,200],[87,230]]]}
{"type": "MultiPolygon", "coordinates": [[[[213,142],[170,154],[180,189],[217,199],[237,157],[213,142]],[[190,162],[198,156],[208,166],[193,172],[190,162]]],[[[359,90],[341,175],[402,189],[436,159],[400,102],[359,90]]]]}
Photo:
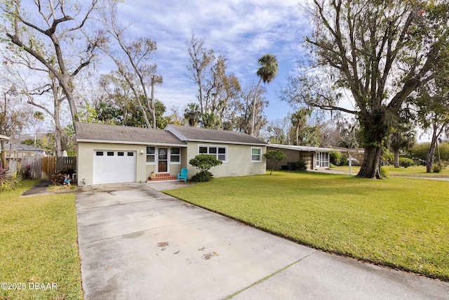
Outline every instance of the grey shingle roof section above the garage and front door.
{"type": "Polygon", "coordinates": [[[76,141],[187,146],[173,133],[161,129],[77,122],[76,141]]]}

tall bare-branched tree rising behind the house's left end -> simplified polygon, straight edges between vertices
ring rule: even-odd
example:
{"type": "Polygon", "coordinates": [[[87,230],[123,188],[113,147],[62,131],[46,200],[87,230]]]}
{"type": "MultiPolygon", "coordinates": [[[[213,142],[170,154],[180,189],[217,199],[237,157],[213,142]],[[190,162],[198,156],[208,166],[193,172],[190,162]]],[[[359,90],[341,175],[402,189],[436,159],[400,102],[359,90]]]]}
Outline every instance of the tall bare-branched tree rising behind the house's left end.
{"type": "Polygon", "coordinates": [[[87,29],[95,22],[91,17],[98,6],[98,0],[86,6],[63,0],[0,3],[4,40],[15,55],[32,56],[48,70],[67,99],[74,122],[78,119],[74,78],[92,63],[98,46],[107,42],[101,30],[87,29]]]}

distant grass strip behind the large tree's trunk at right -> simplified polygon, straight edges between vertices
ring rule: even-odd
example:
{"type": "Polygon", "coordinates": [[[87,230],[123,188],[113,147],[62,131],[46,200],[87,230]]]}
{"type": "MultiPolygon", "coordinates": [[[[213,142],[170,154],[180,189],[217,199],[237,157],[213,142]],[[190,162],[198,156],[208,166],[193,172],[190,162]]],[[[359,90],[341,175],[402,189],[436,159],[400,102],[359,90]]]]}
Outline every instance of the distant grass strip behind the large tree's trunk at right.
{"type": "MultiPolygon", "coordinates": [[[[400,167],[395,168],[394,166],[384,166],[383,167],[389,176],[409,176],[409,177],[429,177],[429,178],[449,178],[449,167],[443,169],[440,173],[426,173],[425,166],[413,166],[413,167],[400,167]]],[[[343,171],[344,173],[349,172],[348,166],[333,167],[332,170],[343,171]]],[[[356,175],[360,171],[359,166],[352,166],[351,173],[356,175]]]]}

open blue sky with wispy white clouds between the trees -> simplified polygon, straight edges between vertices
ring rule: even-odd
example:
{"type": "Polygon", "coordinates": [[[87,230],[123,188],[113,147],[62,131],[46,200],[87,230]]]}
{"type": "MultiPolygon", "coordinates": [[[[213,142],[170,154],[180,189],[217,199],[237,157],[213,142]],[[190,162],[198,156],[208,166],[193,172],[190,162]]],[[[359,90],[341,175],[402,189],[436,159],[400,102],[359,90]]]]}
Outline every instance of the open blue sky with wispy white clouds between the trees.
{"type": "Polygon", "coordinates": [[[192,34],[205,38],[207,48],[228,59],[228,72],[234,73],[242,86],[257,82],[260,56],[276,55],[279,74],[266,86],[270,104],[265,115],[280,119],[291,111],[288,103],[279,101],[276,92],[295,70],[308,32],[309,24],[298,0],[128,0],[119,5],[118,13],[123,24],[131,22],[129,40],[148,37],[157,42],[153,59],[163,84],[156,89],[156,97],[168,111],[172,106],[184,107],[196,100],[185,44],[192,34]]]}

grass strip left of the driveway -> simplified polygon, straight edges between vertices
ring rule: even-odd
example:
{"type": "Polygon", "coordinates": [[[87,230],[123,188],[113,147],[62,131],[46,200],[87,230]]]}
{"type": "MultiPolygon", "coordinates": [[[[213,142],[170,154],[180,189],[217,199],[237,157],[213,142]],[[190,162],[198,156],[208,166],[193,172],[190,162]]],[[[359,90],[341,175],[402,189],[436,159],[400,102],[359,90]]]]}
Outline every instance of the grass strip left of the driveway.
{"type": "Polygon", "coordinates": [[[0,193],[0,282],[25,284],[0,299],[82,299],[74,194],[19,197],[36,183],[0,193]]]}

